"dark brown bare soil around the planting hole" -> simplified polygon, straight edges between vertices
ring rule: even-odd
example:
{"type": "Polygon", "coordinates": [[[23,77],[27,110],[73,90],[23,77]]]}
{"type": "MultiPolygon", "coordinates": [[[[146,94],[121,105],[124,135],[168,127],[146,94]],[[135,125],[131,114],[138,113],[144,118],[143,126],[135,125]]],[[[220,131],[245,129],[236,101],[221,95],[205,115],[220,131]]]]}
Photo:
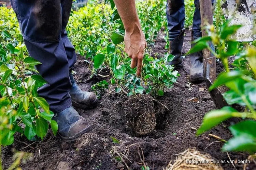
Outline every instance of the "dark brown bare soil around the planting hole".
{"type": "MultiPolygon", "coordinates": [[[[190,32],[186,31],[184,53],[190,48],[190,35],[190,32]]],[[[167,52],[163,49],[165,41],[161,37],[156,40],[155,47],[152,48],[154,53],[167,52]]],[[[74,66],[74,71],[77,72],[75,75],[77,84],[82,90],[90,91],[93,83],[103,79],[101,77],[91,79],[90,70],[88,64],[84,62],[84,58],[79,56],[77,59],[74,66]]],[[[217,65],[218,71],[221,71],[222,65],[217,65]]],[[[156,128],[147,136],[138,137],[126,126],[127,111],[136,109],[132,103],[138,102],[136,100],[139,99],[129,99],[122,95],[106,92],[97,108],[83,110],[76,107],[81,116],[87,117],[93,124],[93,131],[82,135],[75,142],[65,142],[59,136],[53,136],[52,131],[49,130],[43,141],[31,145],[34,149],[27,147],[22,150],[32,152],[34,156],[21,167],[26,170],[122,169],[126,165],[119,161],[118,156],[124,154],[123,159],[131,169],[141,169],[141,158],[143,159],[144,156],[144,162],[151,170],[161,170],[166,168],[171,160],[173,162],[176,159],[175,154],[194,147],[199,151],[205,150],[217,160],[229,160],[227,153],[221,151],[223,146],[221,142],[213,143],[205,149],[211,142],[217,140],[210,137],[209,133],[225,140],[232,137],[225,124],[221,124],[199,137],[195,136],[196,130],[194,129],[199,128],[205,113],[215,109],[215,105],[207,90],[199,91],[199,88],[206,88],[204,83],[189,83],[188,57],[184,58],[184,68],[179,72],[181,77],[178,78],[177,83],[165,92],[164,97],[159,99],[170,111],[166,111],[161,116],[156,114],[156,128]],[[192,98],[194,100],[189,100],[192,98]],[[134,100],[134,102],[127,102],[128,100],[134,100]],[[120,143],[114,143],[110,136],[118,139],[120,143]]],[[[104,70],[101,74],[108,75],[109,72],[104,70]]],[[[149,113],[158,113],[154,110],[156,107],[152,107],[150,100],[145,104],[148,109],[152,109],[149,113]]],[[[140,124],[140,127],[142,125],[140,124]]],[[[20,150],[26,147],[19,141],[32,143],[20,134],[16,134],[15,139],[12,146],[2,148],[2,164],[5,168],[12,163],[11,149],[20,150]]],[[[230,152],[229,155],[232,160],[246,160],[248,156],[235,152],[230,152]]],[[[233,169],[232,164],[221,165],[225,169],[233,169]]],[[[237,169],[243,169],[243,164],[235,164],[235,166],[237,169]]]]}

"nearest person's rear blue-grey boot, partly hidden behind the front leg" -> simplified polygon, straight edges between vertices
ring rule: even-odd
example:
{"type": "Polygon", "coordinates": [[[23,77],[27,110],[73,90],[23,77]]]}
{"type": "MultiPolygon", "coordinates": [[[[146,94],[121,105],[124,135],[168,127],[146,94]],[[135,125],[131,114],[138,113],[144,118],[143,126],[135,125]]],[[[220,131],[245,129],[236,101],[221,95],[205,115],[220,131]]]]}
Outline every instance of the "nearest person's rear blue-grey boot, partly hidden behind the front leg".
{"type": "Polygon", "coordinates": [[[82,91],[80,87],[77,86],[72,71],[69,72],[69,78],[72,83],[72,88],[69,92],[72,102],[82,105],[85,108],[96,107],[98,104],[97,96],[92,92],[82,91]]]}

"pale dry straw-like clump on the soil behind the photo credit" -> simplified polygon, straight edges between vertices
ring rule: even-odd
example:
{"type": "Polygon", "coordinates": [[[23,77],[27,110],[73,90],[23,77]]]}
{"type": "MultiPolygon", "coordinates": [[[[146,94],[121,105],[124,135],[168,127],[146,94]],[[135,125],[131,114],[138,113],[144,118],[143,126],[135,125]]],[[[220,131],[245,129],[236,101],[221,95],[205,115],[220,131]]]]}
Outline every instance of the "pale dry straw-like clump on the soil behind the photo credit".
{"type": "Polygon", "coordinates": [[[212,164],[212,157],[209,154],[201,153],[196,149],[187,149],[182,153],[176,154],[177,158],[174,164],[169,163],[166,170],[223,170],[219,164],[212,164]],[[187,164],[186,161],[189,160],[208,160],[209,164],[187,164]]]}

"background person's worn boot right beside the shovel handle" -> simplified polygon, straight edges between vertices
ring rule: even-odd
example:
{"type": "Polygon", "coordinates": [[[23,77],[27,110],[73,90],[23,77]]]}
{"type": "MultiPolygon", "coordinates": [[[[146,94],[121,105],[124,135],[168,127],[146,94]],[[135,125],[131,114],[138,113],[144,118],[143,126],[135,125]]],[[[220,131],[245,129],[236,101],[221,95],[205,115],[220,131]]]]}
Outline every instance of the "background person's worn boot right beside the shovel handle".
{"type": "MultiPolygon", "coordinates": [[[[192,41],[199,37],[192,35],[192,41]]],[[[195,43],[191,44],[191,48],[195,46],[195,43]]],[[[190,81],[191,82],[202,82],[203,77],[203,52],[195,52],[189,55],[189,66],[190,66],[190,81]]]]}

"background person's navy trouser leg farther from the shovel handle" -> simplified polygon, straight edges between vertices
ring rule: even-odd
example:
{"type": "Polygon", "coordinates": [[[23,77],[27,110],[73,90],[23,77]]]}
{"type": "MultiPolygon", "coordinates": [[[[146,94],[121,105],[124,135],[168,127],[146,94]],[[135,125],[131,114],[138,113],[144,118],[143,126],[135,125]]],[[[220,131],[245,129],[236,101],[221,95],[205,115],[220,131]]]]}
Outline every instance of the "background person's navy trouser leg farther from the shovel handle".
{"type": "Polygon", "coordinates": [[[169,40],[172,41],[179,36],[185,23],[184,0],[167,0],[166,4],[167,27],[169,40]]]}

